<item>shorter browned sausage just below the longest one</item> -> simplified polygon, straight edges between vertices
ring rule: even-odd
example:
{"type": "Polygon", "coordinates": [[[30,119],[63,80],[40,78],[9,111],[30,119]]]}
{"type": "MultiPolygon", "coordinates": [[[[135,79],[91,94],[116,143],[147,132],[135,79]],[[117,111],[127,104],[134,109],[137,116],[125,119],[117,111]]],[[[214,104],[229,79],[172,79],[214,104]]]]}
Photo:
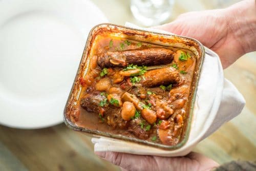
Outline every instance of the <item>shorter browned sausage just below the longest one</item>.
{"type": "Polygon", "coordinates": [[[180,82],[180,73],[173,67],[166,67],[156,70],[150,70],[140,76],[139,83],[144,87],[157,87],[169,84],[177,85],[180,82]]]}

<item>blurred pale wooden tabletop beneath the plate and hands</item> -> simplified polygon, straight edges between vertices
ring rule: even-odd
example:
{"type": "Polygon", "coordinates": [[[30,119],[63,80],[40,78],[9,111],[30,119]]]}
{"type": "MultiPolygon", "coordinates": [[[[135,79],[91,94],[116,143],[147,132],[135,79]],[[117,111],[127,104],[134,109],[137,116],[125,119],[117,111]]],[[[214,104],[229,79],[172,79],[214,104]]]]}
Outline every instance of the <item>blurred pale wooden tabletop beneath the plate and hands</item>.
{"type": "MultiPolygon", "coordinates": [[[[129,21],[138,24],[130,12],[129,1],[94,0],[93,2],[111,23],[124,25],[125,21],[129,21]]],[[[170,20],[186,11],[211,9],[217,5],[218,3],[203,0],[177,1],[170,20]]],[[[195,151],[219,163],[234,159],[256,159],[255,68],[254,52],[240,58],[224,71],[225,77],[244,95],[246,106],[240,116],[225,123],[217,132],[200,142],[195,151]]],[[[60,124],[39,130],[18,130],[0,126],[0,170],[119,170],[119,168],[94,155],[90,137],[68,129],[65,124],[60,124]]]]}

